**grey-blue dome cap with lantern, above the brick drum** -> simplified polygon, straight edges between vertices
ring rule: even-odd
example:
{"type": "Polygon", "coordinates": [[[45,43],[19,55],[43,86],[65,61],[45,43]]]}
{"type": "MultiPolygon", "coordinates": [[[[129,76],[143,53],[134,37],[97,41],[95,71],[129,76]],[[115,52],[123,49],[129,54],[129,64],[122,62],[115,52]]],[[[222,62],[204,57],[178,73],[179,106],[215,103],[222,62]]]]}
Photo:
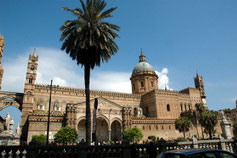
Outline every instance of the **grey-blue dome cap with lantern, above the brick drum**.
{"type": "Polygon", "coordinates": [[[134,67],[132,74],[138,72],[155,72],[154,68],[146,61],[146,56],[142,53],[139,56],[139,63],[134,67]]]}

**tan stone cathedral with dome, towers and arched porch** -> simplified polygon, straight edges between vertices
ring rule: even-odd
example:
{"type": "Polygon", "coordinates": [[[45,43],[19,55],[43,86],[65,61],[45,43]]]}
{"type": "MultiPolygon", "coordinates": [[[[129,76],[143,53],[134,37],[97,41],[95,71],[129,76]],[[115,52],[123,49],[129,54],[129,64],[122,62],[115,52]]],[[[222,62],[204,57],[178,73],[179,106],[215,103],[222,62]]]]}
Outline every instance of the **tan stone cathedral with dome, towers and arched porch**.
{"type": "MultiPolygon", "coordinates": [[[[0,58],[3,47],[1,36],[0,58]]],[[[38,60],[40,57],[36,51],[29,55],[24,93],[0,91],[0,110],[9,105],[21,110],[21,140],[26,142],[33,135],[46,135],[47,129],[50,86],[36,83],[38,60]]],[[[2,76],[3,66],[0,65],[0,83],[2,76]]],[[[180,91],[159,89],[158,78],[141,53],[130,77],[132,93],[90,91],[91,114],[94,110],[97,113],[98,141],[121,140],[122,132],[132,127],[142,130],[144,140],[151,135],[164,139],[183,137],[183,133],[175,129],[175,119],[181,112],[195,110],[196,104],[204,104],[207,108],[203,78],[196,74],[195,88],[180,91]],[[94,109],[95,98],[98,100],[97,109],[94,109]]],[[[70,126],[78,132],[79,141],[85,139],[85,106],[84,89],[53,86],[49,138],[53,139],[60,128],[70,126]]],[[[200,126],[192,127],[187,136],[200,137],[201,133],[200,126]]]]}

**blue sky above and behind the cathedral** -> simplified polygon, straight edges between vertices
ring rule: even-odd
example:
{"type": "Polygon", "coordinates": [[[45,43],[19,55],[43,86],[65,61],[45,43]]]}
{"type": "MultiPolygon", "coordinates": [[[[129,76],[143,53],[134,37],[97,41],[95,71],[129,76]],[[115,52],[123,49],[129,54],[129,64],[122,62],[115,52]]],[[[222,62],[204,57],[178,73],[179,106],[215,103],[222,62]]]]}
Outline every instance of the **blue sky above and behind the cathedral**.
{"type": "MultiPolygon", "coordinates": [[[[194,87],[193,76],[198,71],[204,78],[210,109],[235,107],[236,0],[107,0],[107,3],[108,8],[118,7],[108,21],[121,27],[120,38],[116,39],[119,51],[92,72],[92,88],[112,91],[120,91],[121,85],[130,88],[129,77],[143,48],[148,62],[159,73],[163,72],[171,89],[194,87]],[[109,83],[114,83],[111,76],[121,81],[117,87],[96,85],[99,81],[106,83],[108,78],[109,83]]],[[[49,83],[54,78],[63,86],[83,88],[83,80],[77,76],[83,76],[81,67],[60,51],[59,27],[65,20],[75,18],[62,7],[79,7],[79,1],[0,1],[0,34],[6,43],[3,90],[23,91],[27,57],[33,48],[37,48],[44,65],[39,68],[37,81],[49,83]],[[51,60],[56,66],[45,66],[51,60]],[[60,76],[61,72],[50,73],[57,66],[64,73],[70,71],[75,75],[74,80],[60,76]]]]}

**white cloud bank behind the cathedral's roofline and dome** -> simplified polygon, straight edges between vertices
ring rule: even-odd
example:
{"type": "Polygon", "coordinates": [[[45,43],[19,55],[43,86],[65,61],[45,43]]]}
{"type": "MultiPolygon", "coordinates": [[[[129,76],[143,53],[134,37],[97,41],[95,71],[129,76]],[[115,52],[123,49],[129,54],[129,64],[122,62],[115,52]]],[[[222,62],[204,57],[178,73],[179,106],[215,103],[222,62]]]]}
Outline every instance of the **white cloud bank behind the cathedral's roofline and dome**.
{"type": "MultiPolygon", "coordinates": [[[[15,59],[4,63],[3,90],[23,92],[27,61],[33,48],[22,53],[15,59]]],[[[36,83],[50,84],[53,79],[54,85],[63,87],[84,88],[84,71],[75,61],[64,52],[51,48],[37,48],[39,56],[38,73],[36,83]]],[[[157,71],[159,76],[159,87],[169,89],[168,69],[157,71]]],[[[131,93],[131,72],[91,72],[91,89],[131,93]]]]}

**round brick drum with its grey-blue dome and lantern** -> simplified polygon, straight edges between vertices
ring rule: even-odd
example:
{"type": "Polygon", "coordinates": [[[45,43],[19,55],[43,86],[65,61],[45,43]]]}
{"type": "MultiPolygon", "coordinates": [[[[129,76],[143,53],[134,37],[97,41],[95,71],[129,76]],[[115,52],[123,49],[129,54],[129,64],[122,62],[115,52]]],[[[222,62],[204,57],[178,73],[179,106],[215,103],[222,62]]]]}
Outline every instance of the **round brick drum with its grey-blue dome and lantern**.
{"type": "Polygon", "coordinates": [[[146,56],[142,51],[130,80],[133,94],[145,94],[158,89],[158,76],[153,67],[146,61],[146,56]]]}

